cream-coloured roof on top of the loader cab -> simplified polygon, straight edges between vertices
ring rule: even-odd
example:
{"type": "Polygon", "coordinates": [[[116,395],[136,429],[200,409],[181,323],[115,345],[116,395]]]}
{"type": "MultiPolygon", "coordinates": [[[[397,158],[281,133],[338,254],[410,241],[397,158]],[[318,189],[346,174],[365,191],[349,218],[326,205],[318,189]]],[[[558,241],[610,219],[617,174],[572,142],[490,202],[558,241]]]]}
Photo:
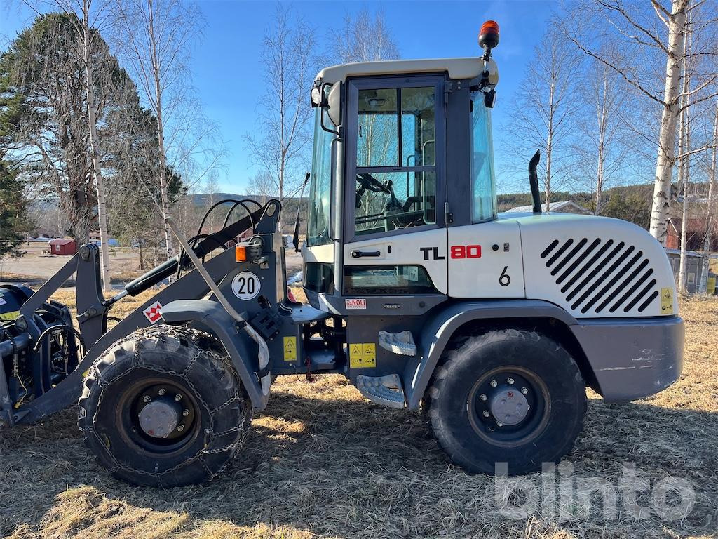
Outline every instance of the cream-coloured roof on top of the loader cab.
{"type": "Polygon", "coordinates": [[[393,75],[401,73],[449,73],[449,78],[475,78],[484,70],[484,61],[473,58],[436,58],[433,60],[382,60],[332,65],[317,75],[324,83],[342,83],[348,77],[360,75],[393,75]]]}

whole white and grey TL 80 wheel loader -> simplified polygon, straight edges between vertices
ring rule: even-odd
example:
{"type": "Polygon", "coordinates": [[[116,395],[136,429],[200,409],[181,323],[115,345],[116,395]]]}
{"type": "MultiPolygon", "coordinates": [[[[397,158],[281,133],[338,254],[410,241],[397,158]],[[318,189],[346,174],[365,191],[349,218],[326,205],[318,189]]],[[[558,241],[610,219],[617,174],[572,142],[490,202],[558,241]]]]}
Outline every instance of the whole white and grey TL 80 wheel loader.
{"type": "Polygon", "coordinates": [[[673,384],[684,324],[658,241],[542,213],[538,152],[533,212],[497,213],[498,35],[484,24],[478,57],[317,75],[307,236],[299,246],[297,218],[292,241],[308,304],[287,293],[276,200],[218,203],[223,228],[190,239],[167,220],[181,253],[113,298],[93,244],[34,292],[1,286],[4,428],[78,405],[113,476],[194,484],[240,451],[277,375],[334,373],[370,402],[422,410],[468,473],[525,474],[571,451],[587,387],[625,402],[673,384]],[[50,298],[73,274],[74,320],[50,298]],[[114,305],[172,276],[108,329],[114,305]]]}

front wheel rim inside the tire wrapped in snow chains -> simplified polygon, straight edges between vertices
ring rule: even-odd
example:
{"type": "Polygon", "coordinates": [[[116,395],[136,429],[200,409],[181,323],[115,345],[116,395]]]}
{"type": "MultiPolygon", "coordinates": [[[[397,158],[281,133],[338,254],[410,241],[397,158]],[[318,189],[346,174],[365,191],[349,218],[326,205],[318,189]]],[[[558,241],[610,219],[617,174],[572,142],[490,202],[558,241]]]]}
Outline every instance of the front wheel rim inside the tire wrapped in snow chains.
{"type": "Polygon", "coordinates": [[[129,387],[118,406],[123,435],[152,453],[172,453],[191,443],[200,430],[197,401],[182,384],[152,378],[129,387]]]}

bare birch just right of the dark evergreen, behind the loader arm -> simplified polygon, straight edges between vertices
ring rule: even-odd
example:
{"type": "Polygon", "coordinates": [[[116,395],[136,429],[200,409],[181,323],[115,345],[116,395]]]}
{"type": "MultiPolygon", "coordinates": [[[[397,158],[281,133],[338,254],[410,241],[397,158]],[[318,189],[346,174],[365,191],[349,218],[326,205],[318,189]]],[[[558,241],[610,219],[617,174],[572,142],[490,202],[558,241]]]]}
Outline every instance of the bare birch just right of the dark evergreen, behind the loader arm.
{"type": "MultiPolygon", "coordinates": [[[[182,0],[116,0],[116,45],[156,121],[159,166],[157,190],[146,185],[162,221],[177,200],[170,176],[199,185],[220,166],[225,153],[215,125],[201,114],[194,97],[188,60],[201,37],[197,4],[182,0]]],[[[177,190],[175,190],[177,193],[177,190]]],[[[164,226],[167,259],[174,256],[172,232],[164,226]]]]}

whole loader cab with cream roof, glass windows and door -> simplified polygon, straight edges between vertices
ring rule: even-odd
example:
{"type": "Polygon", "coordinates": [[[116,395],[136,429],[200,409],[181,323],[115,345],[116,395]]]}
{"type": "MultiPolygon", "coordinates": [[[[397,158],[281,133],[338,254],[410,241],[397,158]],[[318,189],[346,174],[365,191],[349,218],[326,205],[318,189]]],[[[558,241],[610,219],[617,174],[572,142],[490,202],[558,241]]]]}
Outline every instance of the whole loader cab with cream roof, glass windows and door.
{"type": "Polygon", "coordinates": [[[314,307],[345,315],[372,303],[391,309],[388,297],[426,308],[447,298],[447,229],[496,216],[485,94],[497,81],[495,63],[482,58],[317,75],[302,251],[314,307]]]}

